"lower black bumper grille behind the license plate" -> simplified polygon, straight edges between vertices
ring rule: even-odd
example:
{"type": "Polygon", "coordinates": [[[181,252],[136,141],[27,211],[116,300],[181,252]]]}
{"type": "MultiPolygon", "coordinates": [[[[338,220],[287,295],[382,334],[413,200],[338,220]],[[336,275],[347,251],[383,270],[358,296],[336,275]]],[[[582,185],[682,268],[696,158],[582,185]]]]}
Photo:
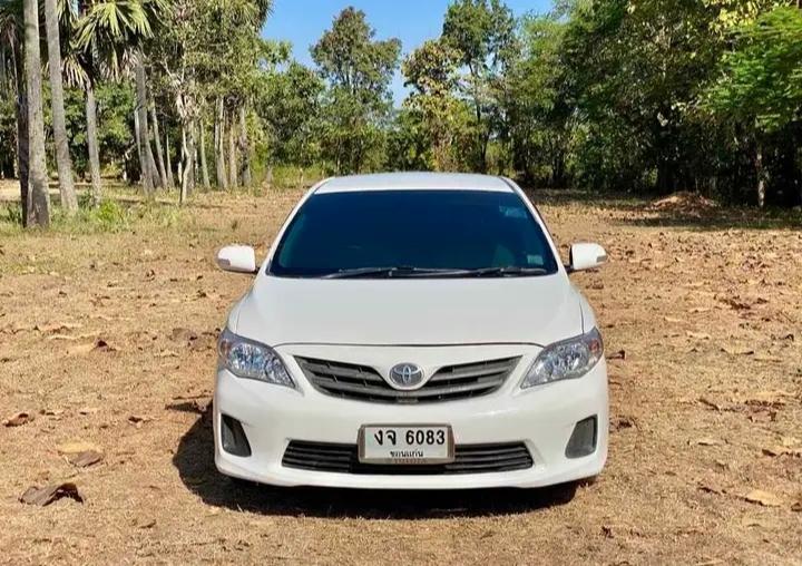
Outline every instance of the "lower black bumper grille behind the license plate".
{"type": "Polygon", "coordinates": [[[525,470],[532,467],[532,459],[524,442],[511,442],[503,445],[458,445],[454,447],[454,461],[449,463],[397,466],[362,463],[359,461],[356,445],[293,440],[284,452],[282,466],[339,474],[440,476],[525,470]]]}

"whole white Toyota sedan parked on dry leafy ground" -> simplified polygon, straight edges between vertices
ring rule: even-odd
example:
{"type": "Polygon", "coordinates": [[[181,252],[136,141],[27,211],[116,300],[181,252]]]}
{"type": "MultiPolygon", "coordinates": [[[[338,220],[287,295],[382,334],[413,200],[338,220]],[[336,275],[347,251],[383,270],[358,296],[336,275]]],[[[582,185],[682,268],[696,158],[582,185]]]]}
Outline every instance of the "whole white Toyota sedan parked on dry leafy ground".
{"type": "Polygon", "coordinates": [[[302,198],[218,343],[215,463],[350,488],[539,487],[607,458],[607,369],[571,271],[510,179],[399,173],[302,198]]]}

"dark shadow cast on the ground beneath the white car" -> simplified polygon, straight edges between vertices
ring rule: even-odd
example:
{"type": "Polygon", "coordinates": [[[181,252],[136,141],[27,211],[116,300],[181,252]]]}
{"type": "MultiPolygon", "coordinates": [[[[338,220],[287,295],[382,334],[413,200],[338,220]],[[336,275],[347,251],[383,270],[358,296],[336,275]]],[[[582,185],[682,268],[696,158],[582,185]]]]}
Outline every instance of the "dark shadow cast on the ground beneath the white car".
{"type": "Polygon", "coordinates": [[[466,490],[361,490],[331,488],[280,488],[232,481],[214,466],[211,403],[168,406],[199,413],[178,443],[173,463],[184,485],[200,499],[217,507],[262,515],[326,518],[424,519],[521,514],[565,505],[577,485],[542,489],[466,490]]]}

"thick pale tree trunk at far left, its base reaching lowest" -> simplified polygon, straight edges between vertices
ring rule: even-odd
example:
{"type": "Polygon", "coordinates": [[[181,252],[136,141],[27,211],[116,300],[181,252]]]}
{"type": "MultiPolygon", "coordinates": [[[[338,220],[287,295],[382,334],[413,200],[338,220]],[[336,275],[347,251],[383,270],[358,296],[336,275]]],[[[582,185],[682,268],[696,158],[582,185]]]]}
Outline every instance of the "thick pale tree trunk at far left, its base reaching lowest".
{"type": "Polygon", "coordinates": [[[39,52],[39,2],[25,0],[26,77],[28,85],[28,137],[30,155],[30,192],[28,193],[28,224],[50,224],[50,193],[48,192],[45,157],[45,117],[42,115],[41,56],[39,52]]]}

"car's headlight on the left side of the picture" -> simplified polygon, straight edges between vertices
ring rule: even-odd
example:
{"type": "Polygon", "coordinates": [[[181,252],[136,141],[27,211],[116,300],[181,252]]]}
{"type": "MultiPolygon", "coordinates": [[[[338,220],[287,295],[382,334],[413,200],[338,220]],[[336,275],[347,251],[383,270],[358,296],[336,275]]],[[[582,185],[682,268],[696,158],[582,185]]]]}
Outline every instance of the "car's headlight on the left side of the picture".
{"type": "Polygon", "coordinates": [[[221,364],[234,375],[296,389],[295,382],[272,348],[237,336],[225,329],[217,341],[221,364]]]}

